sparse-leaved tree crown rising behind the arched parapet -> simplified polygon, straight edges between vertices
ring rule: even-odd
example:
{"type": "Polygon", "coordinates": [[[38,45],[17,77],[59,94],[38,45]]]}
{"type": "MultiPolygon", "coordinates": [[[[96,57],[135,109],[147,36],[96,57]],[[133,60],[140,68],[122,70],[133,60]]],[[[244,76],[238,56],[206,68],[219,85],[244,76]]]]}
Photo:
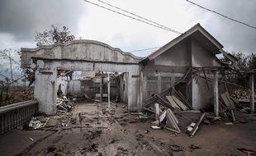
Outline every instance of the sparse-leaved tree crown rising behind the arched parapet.
{"type": "Polygon", "coordinates": [[[36,33],[35,36],[36,46],[63,44],[73,39],[75,39],[75,36],[70,33],[69,28],[60,25],[51,25],[50,30],[36,33]]]}

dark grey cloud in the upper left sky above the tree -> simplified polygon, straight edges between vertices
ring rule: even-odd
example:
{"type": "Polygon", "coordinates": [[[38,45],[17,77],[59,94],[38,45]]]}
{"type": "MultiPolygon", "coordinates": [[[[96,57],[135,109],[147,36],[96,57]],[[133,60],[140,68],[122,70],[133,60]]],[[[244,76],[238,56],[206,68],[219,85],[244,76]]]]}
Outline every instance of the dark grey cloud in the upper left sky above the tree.
{"type": "Polygon", "coordinates": [[[1,0],[0,33],[12,34],[17,41],[33,40],[36,32],[52,24],[77,30],[85,10],[80,0],[1,0]]]}

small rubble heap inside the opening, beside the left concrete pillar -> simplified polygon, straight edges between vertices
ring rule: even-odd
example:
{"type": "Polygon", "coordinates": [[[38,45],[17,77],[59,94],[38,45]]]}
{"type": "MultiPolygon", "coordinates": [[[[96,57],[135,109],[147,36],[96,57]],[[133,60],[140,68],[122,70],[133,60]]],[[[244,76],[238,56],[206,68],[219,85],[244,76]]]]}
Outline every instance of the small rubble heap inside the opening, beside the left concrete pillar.
{"type": "Polygon", "coordinates": [[[73,109],[73,100],[67,99],[66,96],[63,98],[57,98],[56,106],[59,112],[69,112],[73,109]]]}

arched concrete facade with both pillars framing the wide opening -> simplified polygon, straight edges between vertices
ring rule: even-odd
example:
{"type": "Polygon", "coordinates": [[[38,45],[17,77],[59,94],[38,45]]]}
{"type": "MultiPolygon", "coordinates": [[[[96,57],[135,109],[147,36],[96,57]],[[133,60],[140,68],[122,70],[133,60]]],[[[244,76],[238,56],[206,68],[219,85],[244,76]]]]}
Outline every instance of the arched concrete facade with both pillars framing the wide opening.
{"type": "Polygon", "coordinates": [[[21,67],[36,68],[35,98],[40,103],[39,111],[49,115],[56,112],[58,70],[124,72],[127,75],[128,110],[140,112],[141,59],[119,48],[92,40],[21,48],[21,67]]]}

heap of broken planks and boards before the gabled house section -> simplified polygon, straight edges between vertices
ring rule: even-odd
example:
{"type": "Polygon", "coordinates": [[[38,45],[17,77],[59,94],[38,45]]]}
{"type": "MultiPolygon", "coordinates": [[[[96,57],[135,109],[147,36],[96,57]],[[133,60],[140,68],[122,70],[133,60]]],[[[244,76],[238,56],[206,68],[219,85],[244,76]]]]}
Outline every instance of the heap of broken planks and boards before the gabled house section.
{"type": "MultiPolygon", "coordinates": [[[[208,125],[219,123],[220,121],[225,121],[225,125],[233,125],[238,122],[235,117],[235,110],[239,102],[232,98],[228,92],[220,95],[220,117],[215,117],[211,112],[201,113],[201,117],[198,117],[197,121],[190,122],[187,126],[186,132],[189,136],[192,137],[196,134],[202,122],[208,125]]],[[[192,108],[192,105],[183,97],[183,94],[174,88],[166,89],[164,92],[146,99],[143,109],[154,113],[155,121],[151,122],[151,128],[154,130],[166,129],[176,134],[181,133],[177,115],[183,117],[183,112],[200,113],[200,111],[192,108]]],[[[243,109],[241,109],[241,112],[243,112],[243,109]]]]}

